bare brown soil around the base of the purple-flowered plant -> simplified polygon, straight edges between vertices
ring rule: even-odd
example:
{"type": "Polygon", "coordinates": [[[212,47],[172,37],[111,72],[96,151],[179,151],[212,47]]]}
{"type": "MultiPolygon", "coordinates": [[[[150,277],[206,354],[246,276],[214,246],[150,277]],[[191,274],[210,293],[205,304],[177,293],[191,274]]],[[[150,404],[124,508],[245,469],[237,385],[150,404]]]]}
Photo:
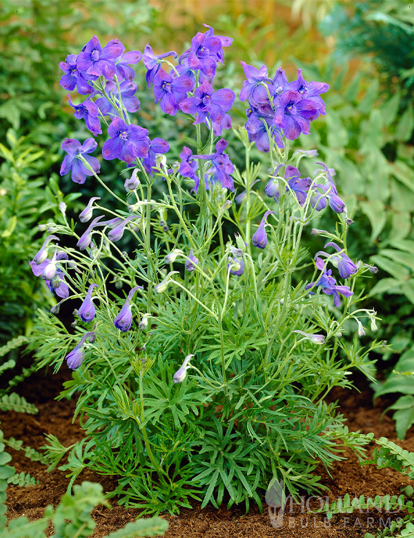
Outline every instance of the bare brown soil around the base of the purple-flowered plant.
{"type": "MultiPolygon", "coordinates": [[[[63,370],[63,369],[62,369],[63,370]]],[[[53,398],[61,390],[61,383],[65,378],[70,378],[69,372],[59,372],[57,376],[36,374],[18,387],[21,396],[39,407],[39,414],[32,416],[14,412],[0,412],[1,429],[6,439],[13,436],[22,439],[23,443],[32,448],[39,449],[45,444],[43,434],[55,434],[63,445],[70,445],[82,438],[79,424],[72,424],[74,404],[68,401],[54,401],[53,398]]],[[[414,451],[414,428],[406,436],[405,441],[398,441],[395,436],[393,421],[389,416],[381,419],[381,413],[388,402],[379,402],[373,407],[372,393],[366,388],[366,381],[359,383],[364,390],[356,391],[335,390],[330,399],[339,400],[341,411],[348,418],[350,430],[360,430],[364,433],[374,432],[375,436],[386,436],[388,439],[400,443],[404,448],[414,451]]],[[[373,448],[373,445],[371,448],[373,448]]],[[[48,504],[54,506],[66,492],[68,479],[59,470],[46,472],[46,466],[33,463],[23,452],[8,449],[12,455],[12,464],[17,472],[29,472],[39,479],[38,486],[19,488],[9,486],[8,493],[8,518],[13,519],[20,515],[26,515],[29,519],[37,519],[43,515],[43,510],[48,504]]],[[[377,470],[374,465],[360,466],[355,454],[349,452],[348,459],[336,463],[331,475],[319,465],[317,472],[322,476],[322,483],[328,486],[327,494],[330,500],[337,499],[348,493],[351,497],[361,494],[368,497],[384,494],[399,494],[407,480],[393,470],[377,470]]],[[[78,477],[76,483],[83,480],[99,481],[104,491],[113,490],[117,486],[115,478],[99,477],[92,472],[84,471],[78,477]]],[[[304,497],[306,501],[306,497],[304,497]]],[[[97,507],[92,515],[97,523],[93,538],[101,538],[123,526],[128,521],[134,521],[139,510],[125,509],[117,506],[112,499],[112,510],[97,507]]],[[[163,515],[169,522],[166,538],[227,538],[227,537],[278,537],[278,538],[353,538],[363,537],[365,532],[375,533],[378,527],[384,527],[389,514],[378,513],[375,510],[367,513],[355,513],[354,515],[337,515],[331,522],[321,515],[308,515],[306,508],[309,506],[294,505],[293,510],[286,506],[286,511],[281,528],[272,526],[270,514],[266,504],[263,514],[257,508],[253,508],[245,515],[244,508],[232,508],[227,510],[222,506],[215,510],[208,506],[201,510],[199,503],[194,503],[193,510],[181,510],[179,515],[163,515]]],[[[311,508],[319,506],[319,499],[311,501],[311,508]]],[[[271,509],[269,509],[271,510],[271,509]]],[[[47,536],[52,534],[52,528],[48,528],[47,536]]]]}

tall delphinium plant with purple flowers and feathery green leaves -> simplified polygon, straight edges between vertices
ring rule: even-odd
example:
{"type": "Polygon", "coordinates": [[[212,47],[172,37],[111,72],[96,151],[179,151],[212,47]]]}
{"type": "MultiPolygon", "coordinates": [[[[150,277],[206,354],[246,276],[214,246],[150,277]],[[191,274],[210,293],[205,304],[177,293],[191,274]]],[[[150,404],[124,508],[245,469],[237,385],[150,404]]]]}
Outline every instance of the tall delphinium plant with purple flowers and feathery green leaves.
{"type": "Polygon", "coordinates": [[[301,160],[317,152],[290,150],[325,113],[328,86],[242,62],[240,169],[224,135],[236,95],[214,86],[230,44],[209,26],[179,57],[92,37],[61,63],[61,86],[77,88],[75,115],[94,135],[63,142],[61,174],[75,189],[99,182],[112,202],[90,199],[77,223],[62,205],[66,224],[50,223],[30,262],[59,300],[41,315],[37,357],[74,370],[61,397],[77,394],[86,439],[62,468],[72,481],[86,467],[117,474],[120,502],[155,512],[191,499],[262,506],[271,479],[293,495],[317,490],[318,460],[362,450],[324,396],[351,386],[351,368],[369,376],[377,343],[362,349],[352,333],[375,325],[375,312],[353,289],[375,268],[346,254],[352,221],[333,171],[319,162],[302,177],[301,160]],[[141,125],[131,67],[141,60],[155,103],[195,133],[179,156],[141,125]],[[124,196],[99,176],[101,131],[124,196]],[[254,145],[267,169],[251,159],[254,145]],[[321,211],[336,219],[332,231],[311,231],[321,211]],[[306,233],[325,238],[324,250],[308,253],[306,233]],[[57,317],[69,301],[75,334],[57,317]]]}

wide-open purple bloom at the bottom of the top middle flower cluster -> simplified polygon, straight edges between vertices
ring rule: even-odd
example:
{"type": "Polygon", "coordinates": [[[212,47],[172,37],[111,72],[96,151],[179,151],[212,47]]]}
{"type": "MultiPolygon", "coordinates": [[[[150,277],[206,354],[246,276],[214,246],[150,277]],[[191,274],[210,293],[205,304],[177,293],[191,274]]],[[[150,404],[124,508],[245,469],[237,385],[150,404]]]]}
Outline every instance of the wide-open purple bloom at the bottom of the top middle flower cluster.
{"type": "Polygon", "coordinates": [[[204,122],[210,115],[213,122],[221,122],[226,112],[233,106],[235,93],[228,88],[213,91],[213,87],[204,81],[196,88],[194,97],[187,97],[179,104],[181,111],[187,114],[197,114],[194,125],[204,122]]]}

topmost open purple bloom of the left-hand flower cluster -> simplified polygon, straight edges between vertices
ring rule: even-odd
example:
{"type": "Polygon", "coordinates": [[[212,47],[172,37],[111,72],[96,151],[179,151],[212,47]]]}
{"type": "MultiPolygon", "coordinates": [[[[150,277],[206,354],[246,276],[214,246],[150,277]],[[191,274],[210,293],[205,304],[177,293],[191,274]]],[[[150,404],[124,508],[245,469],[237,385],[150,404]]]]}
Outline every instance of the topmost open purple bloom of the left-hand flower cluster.
{"type": "Polygon", "coordinates": [[[111,80],[117,70],[113,60],[121,56],[124,50],[124,45],[118,39],[112,39],[102,48],[99,39],[94,35],[82,52],[79,52],[77,69],[86,77],[103,76],[106,80],[111,80]]]}

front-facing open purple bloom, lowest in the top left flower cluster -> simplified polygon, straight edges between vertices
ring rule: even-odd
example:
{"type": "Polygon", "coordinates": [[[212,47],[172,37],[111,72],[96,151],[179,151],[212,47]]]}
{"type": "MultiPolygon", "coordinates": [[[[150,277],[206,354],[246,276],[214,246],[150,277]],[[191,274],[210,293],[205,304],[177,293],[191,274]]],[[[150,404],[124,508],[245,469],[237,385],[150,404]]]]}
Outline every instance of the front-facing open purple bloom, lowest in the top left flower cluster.
{"type": "Polygon", "coordinates": [[[148,131],[137,125],[128,125],[115,117],[108,127],[109,140],[103,144],[102,156],[106,160],[118,158],[131,164],[137,157],[148,157],[148,131]]]}

